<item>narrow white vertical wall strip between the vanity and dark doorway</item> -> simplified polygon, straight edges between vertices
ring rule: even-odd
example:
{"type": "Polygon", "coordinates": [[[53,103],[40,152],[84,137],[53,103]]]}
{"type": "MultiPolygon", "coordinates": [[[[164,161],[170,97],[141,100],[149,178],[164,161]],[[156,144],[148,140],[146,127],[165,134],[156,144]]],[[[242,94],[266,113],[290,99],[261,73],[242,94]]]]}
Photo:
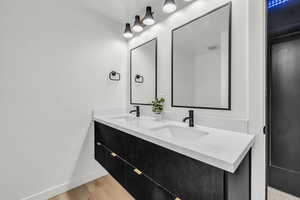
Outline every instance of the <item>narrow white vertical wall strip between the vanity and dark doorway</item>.
{"type": "Polygon", "coordinates": [[[265,1],[249,1],[249,132],[256,135],[252,150],[252,199],[265,200],[266,137],[266,8],[265,1]]]}

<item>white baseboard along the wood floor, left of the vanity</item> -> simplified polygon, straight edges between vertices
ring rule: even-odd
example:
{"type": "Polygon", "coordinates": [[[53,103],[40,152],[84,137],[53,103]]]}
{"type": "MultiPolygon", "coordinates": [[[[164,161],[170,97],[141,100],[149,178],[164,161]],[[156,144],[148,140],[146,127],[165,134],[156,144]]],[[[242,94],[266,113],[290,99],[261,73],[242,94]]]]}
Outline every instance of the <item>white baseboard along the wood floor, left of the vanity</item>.
{"type": "Polygon", "coordinates": [[[99,173],[99,171],[90,173],[87,176],[83,177],[76,177],[74,179],[71,179],[65,183],[50,187],[48,189],[45,189],[44,191],[41,191],[39,193],[30,195],[28,197],[22,198],[21,200],[47,200],[49,198],[52,198],[58,194],[67,192],[73,188],[76,188],[82,184],[88,183],[90,181],[93,181],[95,179],[98,179],[100,177],[103,177],[107,175],[106,172],[99,173]]]}

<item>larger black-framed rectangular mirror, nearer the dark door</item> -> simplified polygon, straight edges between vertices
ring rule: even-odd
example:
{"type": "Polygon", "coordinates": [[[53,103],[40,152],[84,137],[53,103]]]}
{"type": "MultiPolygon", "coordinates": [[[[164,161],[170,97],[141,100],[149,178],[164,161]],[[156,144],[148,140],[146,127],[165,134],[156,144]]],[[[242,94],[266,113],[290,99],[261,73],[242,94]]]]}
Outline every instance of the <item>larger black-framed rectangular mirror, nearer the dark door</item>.
{"type": "Polygon", "coordinates": [[[172,30],[172,106],[230,110],[231,3],[172,30]]]}

